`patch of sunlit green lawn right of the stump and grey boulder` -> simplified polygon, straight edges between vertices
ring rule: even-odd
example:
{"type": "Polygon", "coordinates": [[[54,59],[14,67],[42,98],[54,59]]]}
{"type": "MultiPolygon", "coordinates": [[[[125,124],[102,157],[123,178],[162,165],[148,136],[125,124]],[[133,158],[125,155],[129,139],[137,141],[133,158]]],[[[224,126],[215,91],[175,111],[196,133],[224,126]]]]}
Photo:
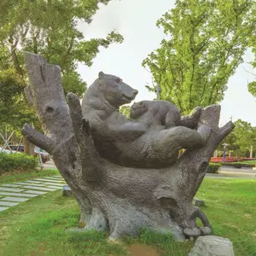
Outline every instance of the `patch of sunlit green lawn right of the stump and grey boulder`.
{"type": "Polygon", "coordinates": [[[256,180],[205,178],[196,195],[206,201],[214,235],[229,238],[235,255],[256,255],[256,180]]]}

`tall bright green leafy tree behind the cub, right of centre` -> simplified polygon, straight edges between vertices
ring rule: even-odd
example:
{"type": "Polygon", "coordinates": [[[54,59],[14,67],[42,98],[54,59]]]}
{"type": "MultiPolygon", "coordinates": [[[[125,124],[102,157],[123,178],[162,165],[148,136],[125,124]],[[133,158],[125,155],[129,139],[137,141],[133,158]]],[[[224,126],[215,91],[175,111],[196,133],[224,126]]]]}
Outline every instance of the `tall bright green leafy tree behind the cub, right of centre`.
{"type": "Polygon", "coordinates": [[[157,22],[166,39],[143,61],[154,79],[148,90],[160,84],[160,99],[183,113],[222,101],[255,35],[255,5],[253,0],[177,0],[157,22]]]}

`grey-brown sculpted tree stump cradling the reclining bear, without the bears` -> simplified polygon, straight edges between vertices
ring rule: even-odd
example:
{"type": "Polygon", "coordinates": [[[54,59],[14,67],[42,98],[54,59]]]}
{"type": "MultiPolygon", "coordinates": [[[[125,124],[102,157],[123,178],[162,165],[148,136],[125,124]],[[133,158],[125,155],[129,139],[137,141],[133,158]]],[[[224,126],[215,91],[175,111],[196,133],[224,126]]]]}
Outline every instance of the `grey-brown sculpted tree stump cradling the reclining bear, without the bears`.
{"type": "Polygon", "coordinates": [[[81,209],[85,230],[108,230],[110,239],[137,236],[142,227],[184,236],[211,233],[207,217],[192,200],[199,189],[215,148],[232,131],[232,122],[218,128],[220,107],[204,108],[199,125],[212,128],[207,145],[185,151],[174,166],[139,169],[113,165],[102,159],[83,119],[79,98],[65,101],[61,68],[40,55],[26,53],[26,68],[34,107],[44,135],[25,125],[22,133],[31,143],[53,155],[81,209]],[[198,228],[195,219],[204,227],[198,228]]]}

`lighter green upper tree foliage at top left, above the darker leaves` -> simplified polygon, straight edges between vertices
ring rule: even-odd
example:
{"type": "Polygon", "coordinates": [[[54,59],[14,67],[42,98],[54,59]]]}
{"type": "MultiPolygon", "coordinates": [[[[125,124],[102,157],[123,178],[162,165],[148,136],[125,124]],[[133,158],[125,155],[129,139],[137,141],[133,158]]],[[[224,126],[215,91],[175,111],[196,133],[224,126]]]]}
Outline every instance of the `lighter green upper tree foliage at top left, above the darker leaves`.
{"type": "Polygon", "coordinates": [[[0,65],[14,67],[26,81],[21,50],[43,55],[61,67],[64,90],[81,96],[85,82],[77,72],[78,62],[91,66],[100,47],[107,48],[123,38],[110,32],[107,38],[84,39],[78,20],[90,23],[99,3],[109,0],[3,0],[0,3],[0,65]]]}

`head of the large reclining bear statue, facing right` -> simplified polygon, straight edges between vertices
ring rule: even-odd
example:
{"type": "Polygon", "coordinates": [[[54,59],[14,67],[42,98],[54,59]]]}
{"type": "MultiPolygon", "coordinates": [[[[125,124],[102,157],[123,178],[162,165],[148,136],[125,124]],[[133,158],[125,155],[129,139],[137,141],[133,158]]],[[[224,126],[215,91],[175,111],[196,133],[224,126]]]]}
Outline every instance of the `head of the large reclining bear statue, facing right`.
{"type": "Polygon", "coordinates": [[[133,101],[138,93],[137,90],[125,84],[119,77],[102,72],[99,73],[97,84],[103,98],[112,106],[118,108],[133,101]]]}

